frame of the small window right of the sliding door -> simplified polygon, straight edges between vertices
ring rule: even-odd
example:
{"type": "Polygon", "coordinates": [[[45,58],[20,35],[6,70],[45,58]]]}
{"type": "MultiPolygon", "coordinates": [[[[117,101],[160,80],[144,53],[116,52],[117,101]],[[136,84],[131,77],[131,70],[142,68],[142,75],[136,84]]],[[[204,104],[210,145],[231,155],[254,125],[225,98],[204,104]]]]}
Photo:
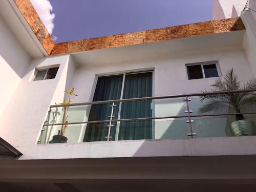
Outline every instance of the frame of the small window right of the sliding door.
{"type": "Polygon", "coordinates": [[[221,70],[220,70],[220,65],[219,65],[219,61],[218,60],[214,60],[214,61],[206,61],[206,62],[194,62],[194,63],[186,63],[186,76],[187,76],[187,80],[198,80],[198,79],[189,79],[189,75],[188,75],[188,66],[201,66],[201,70],[202,70],[202,74],[203,74],[203,78],[198,78],[198,79],[208,79],[208,78],[217,78],[217,77],[205,77],[205,72],[204,72],[204,67],[203,66],[207,66],[207,65],[215,65],[217,72],[218,72],[218,77],[221,77],[221,70]]]}

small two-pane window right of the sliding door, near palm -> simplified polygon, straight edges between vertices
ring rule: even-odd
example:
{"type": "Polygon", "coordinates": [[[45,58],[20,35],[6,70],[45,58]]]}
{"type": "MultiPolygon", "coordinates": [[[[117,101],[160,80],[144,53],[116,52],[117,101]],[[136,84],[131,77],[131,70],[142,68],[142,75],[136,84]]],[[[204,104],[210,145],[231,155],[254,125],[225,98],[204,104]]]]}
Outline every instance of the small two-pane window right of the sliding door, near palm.
{"type": "Polygon", "coordinates": [[[218,61],[187,64],[188,79],[219,77],[218,61]]]}

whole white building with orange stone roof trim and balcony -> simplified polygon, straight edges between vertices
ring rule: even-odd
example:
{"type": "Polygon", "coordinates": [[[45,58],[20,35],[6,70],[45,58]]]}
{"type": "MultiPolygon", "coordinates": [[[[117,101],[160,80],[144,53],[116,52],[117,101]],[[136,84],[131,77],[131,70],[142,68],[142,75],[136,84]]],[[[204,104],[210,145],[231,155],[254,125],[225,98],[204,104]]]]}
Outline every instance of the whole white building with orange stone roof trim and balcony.
{"type": "MultiPolygon", "coordinates": [[[[146,31],[138,43],[140,32],[51,51],[24,2],[0,2],[0,137],[14,153],[0,156],[3,191],[254,190],[256,137],[232,135],[229,109],[202,116],[193,94],[230,69],[242,83],[256,77],[256,2],[241,18],[146,31]],[[67,141],[51,143],[62,128],[67,141]]],[[[254,110],[243,111],[250,121],[254,110]]]]}

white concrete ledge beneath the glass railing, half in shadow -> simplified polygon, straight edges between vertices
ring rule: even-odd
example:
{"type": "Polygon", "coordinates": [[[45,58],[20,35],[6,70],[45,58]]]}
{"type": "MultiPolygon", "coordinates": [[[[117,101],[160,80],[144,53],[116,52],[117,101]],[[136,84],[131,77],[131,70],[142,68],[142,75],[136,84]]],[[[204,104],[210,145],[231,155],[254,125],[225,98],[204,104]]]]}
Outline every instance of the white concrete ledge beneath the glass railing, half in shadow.
{"type": "Polygon", "coordinates": [[[19,159],[256,155],[256,137],[131,140],[15,146],[19,159]]]}

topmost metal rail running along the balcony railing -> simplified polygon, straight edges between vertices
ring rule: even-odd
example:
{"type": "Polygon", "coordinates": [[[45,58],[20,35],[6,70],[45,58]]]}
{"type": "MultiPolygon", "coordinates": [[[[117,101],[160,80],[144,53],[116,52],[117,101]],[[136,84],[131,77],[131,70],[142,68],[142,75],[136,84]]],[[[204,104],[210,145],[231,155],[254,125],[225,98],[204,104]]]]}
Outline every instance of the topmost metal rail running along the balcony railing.
{"type": "Polygon", "coordinates": [[[246,93],[246,92],[256,92],[256,89],[247,90],[235,90],[235,91],[218,91],[218,92],[201,92],[201,93],[189,93],[180,95],[169,95],[160,97],[142,97],[142,98],[132,98],[132,99],[117,99],[117,100],[107,100],[107,101],[94,101],[94,102],[82,102],[82,103],[71,103],[71,104],[55,104],[50,105],[50,108],[60,108],[62,106],[80,106],[80,105],[92,105],[92,104],[105,104],[113,102],[129,102],[129,101],[142,101],[142,100],[156,100],[156,99],[170,99],[170,98],[181,98],[181,97],[195,97],[195,96],[206,96],[206,95],[220,95],[220,94],[232,94],[232,93],[246,93]]]}

